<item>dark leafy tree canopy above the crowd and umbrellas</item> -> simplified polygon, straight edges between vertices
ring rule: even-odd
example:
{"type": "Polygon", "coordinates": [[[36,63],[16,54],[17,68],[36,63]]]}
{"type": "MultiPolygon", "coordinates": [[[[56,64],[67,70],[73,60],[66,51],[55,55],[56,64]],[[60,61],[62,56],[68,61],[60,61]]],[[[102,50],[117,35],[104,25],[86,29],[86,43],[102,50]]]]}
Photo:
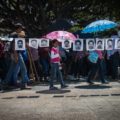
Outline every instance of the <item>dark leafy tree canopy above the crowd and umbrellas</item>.
{"type": "Polygon", "coordinates": [[[118,0],[1,0],[2,28],[23,23],[30,37],[42,36],[57,19],[78,21],[81,26],[96,19],[119,20],[118,0]],[[3,24],[4,23],[4,24],[3,24]]]}

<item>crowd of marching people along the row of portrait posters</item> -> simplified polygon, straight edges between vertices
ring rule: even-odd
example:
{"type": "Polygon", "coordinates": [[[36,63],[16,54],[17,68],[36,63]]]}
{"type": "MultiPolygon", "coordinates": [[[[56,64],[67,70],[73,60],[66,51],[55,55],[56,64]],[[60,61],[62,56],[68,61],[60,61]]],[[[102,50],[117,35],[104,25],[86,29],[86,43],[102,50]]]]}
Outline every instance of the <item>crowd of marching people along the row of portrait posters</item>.
{"type": "MultiPolygon", "coordinates": [[[[113,37],[116,36],[117,33],[113,37]]],[[[83,51],[74,51],[71,46],[69,49],[61,47],[57,39],[52,40],[49,47],[36,49],[29,46],[21,24],[16,24],[15,31],[9,37],[13,38],[11,42],[0,38],[0,89],[7,89],[9,86],[26,89],[29,88],[27,84],[31,79],[49,82],[50,90],[57,89],[53,84],[57,79],[61,88],[68,87],[65,84],[67,79],[80,81],[84,78],[90,85],[94,84],[93,80],[97,79],[97,76],[103,84],[119,80],[120,49],[88,52],[83,47],[83,51]],[[15,50],[14,38],[25,38],[25,50],[15,50]],[[7,45],[9,47],[6,47],[7,45]]],[[[41,44],[44,45],[45,42],[41,44]]],[[[111,45],[111,41],[107,42],[111,45]]],[[[102,41],[98,41],[98,47],[101,47],[101,43],[102,41]]],[[[23,43],[19,40],[17,44],[21,48],[23,43]]],[[[31,41],[31,44],[34,46],[36,41],[31,41]]],[[[69,41],[65,41],[66,47],[68,44],[69,41]]],[[[81,49],[79,45],[84,43],[76,41],[75,44],[75,49],[81,49]]],[[[92,49],[94,43],[89,40],[88,44],[92,49]]]]}

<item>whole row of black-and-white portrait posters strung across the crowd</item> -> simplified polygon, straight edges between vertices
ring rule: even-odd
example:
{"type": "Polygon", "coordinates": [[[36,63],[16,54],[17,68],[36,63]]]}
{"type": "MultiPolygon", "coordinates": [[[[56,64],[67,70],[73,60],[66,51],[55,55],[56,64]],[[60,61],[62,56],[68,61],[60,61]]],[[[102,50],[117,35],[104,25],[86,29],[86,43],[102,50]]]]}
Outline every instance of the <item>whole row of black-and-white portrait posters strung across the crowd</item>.
{"type": "MultiPolygon", "coordinates": [[[[25,50],[25,38],[15,38],[14,41],[15,50],[25,50]]],[[[29,38],[29,46],[35,49],[38,49],[38,47],[50,47],[50,40],[46,38],[29,38]]],[[[8,51],[9,47],[10,43],[7,44],[6,41],[5,51],[8,51]]],[[[65,39],[62,40],[62,48],[66,50],[72,49],[73,51],[83,51],[84,48],[87,51],[120,50],[120,38],[77,38],[74,42],[65,39]]]]}

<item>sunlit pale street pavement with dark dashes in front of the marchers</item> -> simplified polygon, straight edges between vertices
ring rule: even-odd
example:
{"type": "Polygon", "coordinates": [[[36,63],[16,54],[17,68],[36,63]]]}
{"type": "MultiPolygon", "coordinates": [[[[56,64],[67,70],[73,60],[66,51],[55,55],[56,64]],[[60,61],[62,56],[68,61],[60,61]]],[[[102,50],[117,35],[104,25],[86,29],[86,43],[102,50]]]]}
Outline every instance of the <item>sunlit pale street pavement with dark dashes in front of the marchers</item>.
{"type": "Polygon", "coordinates": [[[49,91],[46,83],[1,91],[0,120],[120,120],[119,82],[68,85],[61,90],[56,84],[56,91],[49,91]]]}

